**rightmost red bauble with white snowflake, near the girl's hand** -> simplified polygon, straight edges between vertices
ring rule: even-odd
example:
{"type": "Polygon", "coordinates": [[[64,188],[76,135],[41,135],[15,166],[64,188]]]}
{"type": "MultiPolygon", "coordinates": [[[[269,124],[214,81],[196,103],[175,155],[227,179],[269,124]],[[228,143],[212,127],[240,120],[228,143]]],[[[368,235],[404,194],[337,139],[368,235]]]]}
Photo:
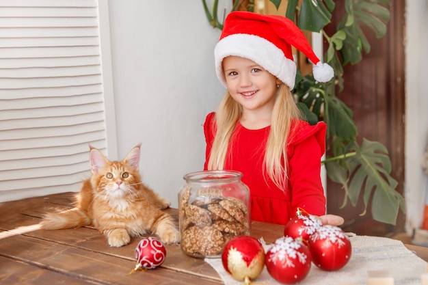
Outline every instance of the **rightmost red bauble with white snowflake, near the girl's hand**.
{"type": "Polygon", "coordinates": [[[310,236],[309,249],[312,262],[325,271],[338,270],[351,259],[351,241],[336,226],[325,225],[319,228],[310,236]]]}

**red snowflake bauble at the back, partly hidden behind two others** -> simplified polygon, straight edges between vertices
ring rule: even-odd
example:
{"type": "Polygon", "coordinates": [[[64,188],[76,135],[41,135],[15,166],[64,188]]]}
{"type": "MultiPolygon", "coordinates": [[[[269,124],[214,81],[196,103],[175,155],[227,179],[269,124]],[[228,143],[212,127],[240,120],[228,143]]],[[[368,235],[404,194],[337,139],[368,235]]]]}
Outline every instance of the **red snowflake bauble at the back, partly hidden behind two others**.
{"type": "Polygon", "coordinates": [[[309,236],[321,226],[321,221],[317,217],[298,208],[295,217],[286,223],[284,236],[291,236],[294,239],[302,237],[305,242],[308,242],[309,236]]]}

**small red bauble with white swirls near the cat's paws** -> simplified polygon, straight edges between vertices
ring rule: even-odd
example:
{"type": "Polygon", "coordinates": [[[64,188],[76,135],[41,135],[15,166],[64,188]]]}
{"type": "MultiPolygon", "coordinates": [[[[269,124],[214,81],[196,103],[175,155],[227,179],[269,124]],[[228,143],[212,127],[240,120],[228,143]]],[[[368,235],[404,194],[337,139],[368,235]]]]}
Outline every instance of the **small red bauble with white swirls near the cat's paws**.
{"type": "Polygon", "coordinates": [[[153,236],[143,238],[135,248],[135,258],[137,258],[138,264],[145,269],[159,267],[165,261],[165,257],[165,245],[153,236]]]}

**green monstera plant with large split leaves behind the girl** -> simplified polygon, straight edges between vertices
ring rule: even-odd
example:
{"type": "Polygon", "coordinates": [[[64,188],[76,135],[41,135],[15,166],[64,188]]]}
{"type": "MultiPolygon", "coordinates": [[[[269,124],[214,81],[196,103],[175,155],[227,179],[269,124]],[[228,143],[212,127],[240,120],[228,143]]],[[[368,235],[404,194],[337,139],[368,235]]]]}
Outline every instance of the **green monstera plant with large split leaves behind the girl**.
{"type": "MultiPolygon", "coordinates": [[[[269,1],[278,11],[281,0],[269,1]]],[[[232,10],[237,10],[241,2],[235,0],[232,10]]],[[[319,83],[311,75],[302,76],[297,70],[293,90],[298,98],[297,105],[311,124],[320,120],[327,124],[328,151],[323,163],[327,176],[343,185],[346,195],[342,206],[348,200],[356,206],[362,195],[364,211],[361,215],[365,215],[372,198],[373,219],[394,225],[399,211],[405,213],[405,202],[396,190],[397,181],[390,175],[392,167],[388,150],[379,142],[368,139],[363,139],[361,146],[358,144],[358,128],[353,122],[352,111],[338,98],[343,91],[343,66],[360,62],[362,53],[369,53],[371,48],[361,26],[366,25],[377,38],[382,38],[390,17],[389,0],[345,0],[345,14],[332,36],[327,35],[324,28],[330,23],[334,1],[300,2],[289,0],[284,16],[295,21],[300,29],[322,33],[328,44],[323,61],[334,68],[335,77],[330,82],[319,83]]],[[[217,16],[218,0],[213,1],[211,11],[206,0],[202,3],[209,23],[222,29],[223,23],[217,16]]],[[[254,12],[254,0],[248,1],[246,9],[254,12]]]]}

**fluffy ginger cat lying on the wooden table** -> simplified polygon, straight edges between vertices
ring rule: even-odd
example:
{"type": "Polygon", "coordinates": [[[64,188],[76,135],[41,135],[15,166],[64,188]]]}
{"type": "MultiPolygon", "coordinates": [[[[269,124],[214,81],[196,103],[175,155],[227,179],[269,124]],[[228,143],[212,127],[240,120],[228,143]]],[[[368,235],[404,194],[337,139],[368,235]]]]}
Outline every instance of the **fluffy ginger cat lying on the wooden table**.
{"type": "Polygon", "coordinates": [[[140,146],[122,161],[109,161],[90,147],[92,176],[83,182],[75,208],[49,213],[40,222],[44,230],[93,225],[111,247],[121,247],[131,237],[157,234],[166,244],[178,243],[180,234],[174,219],[163,211],[170,202],[143,184],[139,174],[140,146]]]}

